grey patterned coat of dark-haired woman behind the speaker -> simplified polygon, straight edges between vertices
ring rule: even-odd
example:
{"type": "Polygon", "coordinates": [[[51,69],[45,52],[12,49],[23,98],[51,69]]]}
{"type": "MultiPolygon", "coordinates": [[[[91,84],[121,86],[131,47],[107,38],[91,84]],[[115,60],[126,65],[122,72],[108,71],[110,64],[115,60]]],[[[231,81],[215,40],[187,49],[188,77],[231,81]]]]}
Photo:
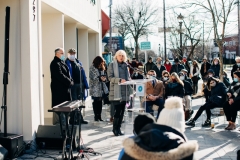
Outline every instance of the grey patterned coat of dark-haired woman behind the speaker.
{"type": "Polygon", "coordinates": [[[102,97],[108,93],[106,84],[99,80],[99,71],[93,65],[89,69],[89,92],[92,97],[102,97]]]}

